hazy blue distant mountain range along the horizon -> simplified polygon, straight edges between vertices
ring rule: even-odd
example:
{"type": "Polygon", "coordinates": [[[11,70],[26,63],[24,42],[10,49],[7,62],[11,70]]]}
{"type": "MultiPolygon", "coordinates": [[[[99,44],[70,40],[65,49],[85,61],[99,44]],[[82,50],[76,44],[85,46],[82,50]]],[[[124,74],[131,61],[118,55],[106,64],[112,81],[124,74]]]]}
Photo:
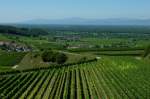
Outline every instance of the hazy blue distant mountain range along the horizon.
{"type": "Polygon", "coordinates": [[[34,19],[21,24],[58,24],[58,25],[150,25],[150,19],[34,19]]]}

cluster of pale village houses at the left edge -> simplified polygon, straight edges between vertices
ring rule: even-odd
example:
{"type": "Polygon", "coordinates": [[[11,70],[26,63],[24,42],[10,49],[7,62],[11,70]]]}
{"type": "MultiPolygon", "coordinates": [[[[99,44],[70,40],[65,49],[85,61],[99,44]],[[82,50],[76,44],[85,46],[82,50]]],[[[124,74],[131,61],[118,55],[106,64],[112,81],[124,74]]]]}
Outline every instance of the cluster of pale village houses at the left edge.
{"type": "Polygon", "coordinates": [[[0,49],[6,51],[16,51],[16,52],[29,52],[32,49],[23,44],[17,44],[13,41],[0,41],[0,49]]]}

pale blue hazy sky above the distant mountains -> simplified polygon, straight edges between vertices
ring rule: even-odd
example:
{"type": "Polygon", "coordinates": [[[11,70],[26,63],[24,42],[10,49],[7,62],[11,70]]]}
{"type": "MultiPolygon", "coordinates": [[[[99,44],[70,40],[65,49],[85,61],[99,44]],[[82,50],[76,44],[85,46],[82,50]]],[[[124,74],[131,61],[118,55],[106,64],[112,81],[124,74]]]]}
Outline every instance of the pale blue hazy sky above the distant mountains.
{"type": "Polygon", "coordinates": [[[72,17],[150,19],[150,0],[0,0],[0,22],[72,17]]]}

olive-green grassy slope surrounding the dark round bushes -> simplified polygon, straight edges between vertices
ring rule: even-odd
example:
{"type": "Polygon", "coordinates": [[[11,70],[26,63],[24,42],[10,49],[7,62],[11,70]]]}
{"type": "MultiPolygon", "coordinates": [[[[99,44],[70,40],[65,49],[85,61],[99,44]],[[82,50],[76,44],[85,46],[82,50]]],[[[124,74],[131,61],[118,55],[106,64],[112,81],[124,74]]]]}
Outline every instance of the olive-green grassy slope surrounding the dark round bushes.
{"type": "MultiPolygon", "coordinates": [[[[77,63],[80,60],[82,60],[82,58],[84,57],[86,57],[87,60],[95,58],[95,56],[89,57],[88,54],[80,55],[80,54],[74,54],[74,53],[63,52],[63,51],[60,51],[60,52],[65,53],[68,57],[65,64],[77,63]]],[[[43,62],[40,53],[41,52],[30,52],[26,54],[25,57],[19,62],[19,64],[17,64],[16,69],[25,70],[25,69],[33,69],[33,68],[49,67],[49,66],[57,65],[56,63],[43,62]]]]}

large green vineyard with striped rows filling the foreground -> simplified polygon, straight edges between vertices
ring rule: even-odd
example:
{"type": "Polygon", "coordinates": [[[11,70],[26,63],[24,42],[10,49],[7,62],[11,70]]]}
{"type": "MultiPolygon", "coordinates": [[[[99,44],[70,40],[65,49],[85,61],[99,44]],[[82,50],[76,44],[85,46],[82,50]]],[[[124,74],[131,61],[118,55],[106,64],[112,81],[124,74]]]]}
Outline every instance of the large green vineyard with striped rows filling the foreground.
{"type": "Polygon", "coordinates": [[[148,61],[95,62],[0,76],[0,99],[150,99],[148,61]]]}

